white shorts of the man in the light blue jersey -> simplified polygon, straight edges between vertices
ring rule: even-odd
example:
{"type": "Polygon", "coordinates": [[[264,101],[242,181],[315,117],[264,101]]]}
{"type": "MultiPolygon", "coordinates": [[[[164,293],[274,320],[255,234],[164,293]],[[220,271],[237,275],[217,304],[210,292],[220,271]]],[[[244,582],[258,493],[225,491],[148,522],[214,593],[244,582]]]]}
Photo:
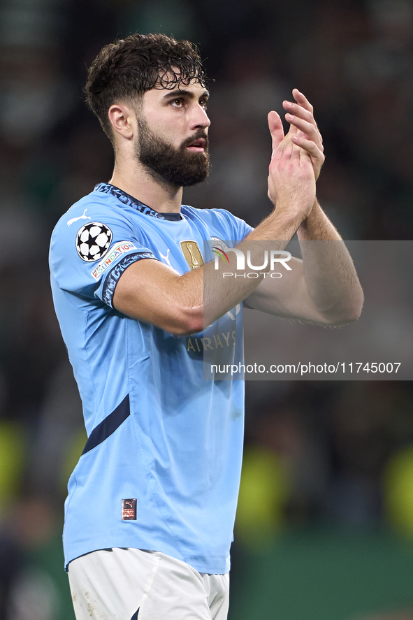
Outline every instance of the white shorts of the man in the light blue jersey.
{"type": "Polygon", "coordinates": [[[68,565],[77,620],[226,620],[229,574],[160,551],[101,549],[68,565]]]}

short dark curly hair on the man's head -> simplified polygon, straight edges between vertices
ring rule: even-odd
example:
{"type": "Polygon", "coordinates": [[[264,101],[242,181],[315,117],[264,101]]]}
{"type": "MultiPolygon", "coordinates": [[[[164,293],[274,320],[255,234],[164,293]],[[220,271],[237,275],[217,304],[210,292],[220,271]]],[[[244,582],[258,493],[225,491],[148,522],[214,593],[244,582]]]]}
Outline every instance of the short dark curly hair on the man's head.
{"type": "Polygon", "coordinates": [[[165,34],[131,34],[105,45],[92,62],[85,85],[86,103],[112,140],[108,110],[113,103],[130,102],[156,85],[173,89],[194,79],[206,86],[196,45],[165,34]]]}

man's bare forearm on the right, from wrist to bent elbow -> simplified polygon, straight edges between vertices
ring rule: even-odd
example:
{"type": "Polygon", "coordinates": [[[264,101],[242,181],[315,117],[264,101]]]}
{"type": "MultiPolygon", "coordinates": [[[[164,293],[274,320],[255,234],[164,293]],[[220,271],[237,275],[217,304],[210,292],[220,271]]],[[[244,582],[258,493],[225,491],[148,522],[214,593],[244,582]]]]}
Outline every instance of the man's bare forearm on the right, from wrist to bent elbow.
{"type": "Polygon", "coordinates": [[[331,324],[356,320],[363,306],[363,289],[345,243],[317,201],[297,236],[305,287],[314,305],[331,324]]]}

